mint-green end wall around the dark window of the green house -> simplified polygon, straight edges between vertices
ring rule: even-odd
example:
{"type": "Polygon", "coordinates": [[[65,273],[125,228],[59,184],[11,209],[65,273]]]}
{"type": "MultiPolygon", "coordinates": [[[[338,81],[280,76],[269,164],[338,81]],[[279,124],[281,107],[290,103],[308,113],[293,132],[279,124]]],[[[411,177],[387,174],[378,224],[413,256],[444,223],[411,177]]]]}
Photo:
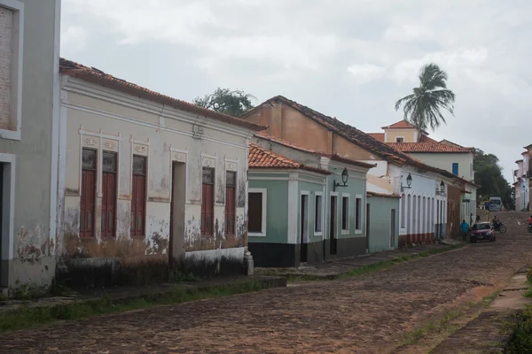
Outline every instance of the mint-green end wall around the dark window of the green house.
{"type": "MultiPolygon", "coordinates": [[[[267,173],[263,177],[271,177],[267,173]]],[[[257,177],[254,174],[254,177],[257,177]]],[[[288,177],[275,174],[275,177],[288,177]]],[[[248,181],[249,189],[267,189],[266,236],[247,237],[247,242],[286,243],[288,241],[288,181],[248,181]]]]}

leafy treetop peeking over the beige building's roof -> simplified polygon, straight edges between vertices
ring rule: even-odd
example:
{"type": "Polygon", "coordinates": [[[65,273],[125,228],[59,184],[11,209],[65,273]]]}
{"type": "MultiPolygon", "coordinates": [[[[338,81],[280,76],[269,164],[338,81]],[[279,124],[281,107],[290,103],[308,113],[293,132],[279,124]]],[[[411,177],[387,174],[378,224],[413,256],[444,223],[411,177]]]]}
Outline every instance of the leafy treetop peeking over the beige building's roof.
{"type": "Polygon", "coordinates": [[[194,104],[200,107],[229,114],[233,117],[239,117],[243,112],[254,107],[251,100],[255,97],[246,94],[246,92],[239,89],[216,89],[210,95],[194,98],[194,104]]]}

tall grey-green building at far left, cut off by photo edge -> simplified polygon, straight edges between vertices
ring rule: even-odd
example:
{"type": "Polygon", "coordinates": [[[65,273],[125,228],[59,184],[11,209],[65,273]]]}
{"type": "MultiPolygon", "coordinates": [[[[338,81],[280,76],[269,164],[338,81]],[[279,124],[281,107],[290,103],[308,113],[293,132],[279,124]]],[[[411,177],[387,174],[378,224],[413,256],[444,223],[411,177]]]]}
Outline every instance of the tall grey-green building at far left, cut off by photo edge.
{"type": "Polygon", "coordinates": [[[0,0],[0,289],[56,271],[59,0],[0,0]]]}

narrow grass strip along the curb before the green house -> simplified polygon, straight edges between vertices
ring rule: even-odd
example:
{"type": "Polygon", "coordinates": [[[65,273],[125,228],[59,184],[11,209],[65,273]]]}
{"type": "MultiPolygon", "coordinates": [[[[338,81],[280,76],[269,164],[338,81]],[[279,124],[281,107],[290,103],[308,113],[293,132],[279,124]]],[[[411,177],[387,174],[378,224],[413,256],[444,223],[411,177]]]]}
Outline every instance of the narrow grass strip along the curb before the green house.
{"type": "Polygon", "coordinates": [[[340,274],[331,275],[331,276],[328,276],[328,277],[320,277],[320,276],[315,276],[315,275],[288,275],[287,278],[288,278],[288,281],[290,281],[290,282],[298,282],[298,281],[305,281],[305,282],[308,282],[308,281],[334,281],[334,280],[347,279],[347,278],[350,278],[350,277],[353,277],[353,276],[357,276],[357,275],[363,275],[363,274],[367,274],[367,273],[373,273],[373,272],[378,272],[378,271],[381,271],[381,270],[385,270],[385,269],[391,268],[393,266],[397,266],[398,264],[401,264],[401,263],[404,263],[404,262],[409,262],[409,261],[414,260],[414,259],[426,258],[426,257],[434,256],[434,255],[437,255],[437,254],[440,254],[440,253],[443,253],[443,252],[448,252],[450,250],[457,250],[457,249],[463,247],[464,245],[465,245],[465,243],[464,244],[458,244],[458,245],[455,245],[455,246],[445,247],[445,248],[442,248],[442,249],[434,249],[434,250],[427,250],[427,251],[424,250],[424,251],[419,252],[418,254],[414,254],[414,255],[411,255],[411,256],[403,256],[403,257],[394,258],[394,259],[390,259],[390,260],[384,260],[384,261],[381,261],[381,262],[378,262],[378,263],[372,263],[371,265],[367,265],[367,266],[359,266],[359,267],[356,267],[356,268],[350,270],[347,273],[340,273],[340,274]]]}

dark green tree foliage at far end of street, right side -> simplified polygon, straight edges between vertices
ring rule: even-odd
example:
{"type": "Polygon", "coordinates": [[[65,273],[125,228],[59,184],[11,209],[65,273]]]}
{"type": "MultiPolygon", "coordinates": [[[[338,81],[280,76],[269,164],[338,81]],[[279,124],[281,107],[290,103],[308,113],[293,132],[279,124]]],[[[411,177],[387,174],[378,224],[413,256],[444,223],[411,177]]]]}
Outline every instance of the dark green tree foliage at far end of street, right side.
{"type": "Polygon", "coordinates": [[[474,182],[481,185],[477,190],[479,201],[488,200],[490,196],[500,196],[505,207],[513,209],[515,203],[512,198],[512,187],[503,177],[497,156],[486,154],[480,149],[474,151],[474,182]]]}

